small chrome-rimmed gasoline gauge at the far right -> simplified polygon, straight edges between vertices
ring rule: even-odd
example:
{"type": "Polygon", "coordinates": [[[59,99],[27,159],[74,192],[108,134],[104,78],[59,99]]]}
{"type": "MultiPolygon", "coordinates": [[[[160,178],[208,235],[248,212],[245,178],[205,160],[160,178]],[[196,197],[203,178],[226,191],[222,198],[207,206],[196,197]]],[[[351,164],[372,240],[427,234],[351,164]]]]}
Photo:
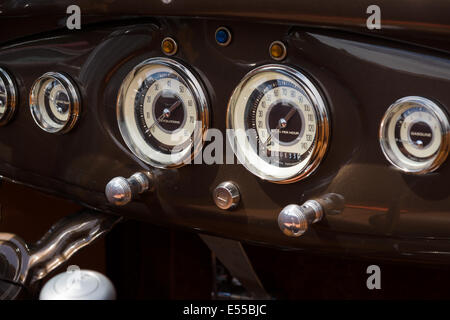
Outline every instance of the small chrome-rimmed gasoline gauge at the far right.
{"type": "Polygon", "coordinates": [[[445,161],[450,126],[446,113],[423,97],[397,100],[380,126],[380,144],[386,158],[398,169],[416,174],[431,172],[445,161]]]}

